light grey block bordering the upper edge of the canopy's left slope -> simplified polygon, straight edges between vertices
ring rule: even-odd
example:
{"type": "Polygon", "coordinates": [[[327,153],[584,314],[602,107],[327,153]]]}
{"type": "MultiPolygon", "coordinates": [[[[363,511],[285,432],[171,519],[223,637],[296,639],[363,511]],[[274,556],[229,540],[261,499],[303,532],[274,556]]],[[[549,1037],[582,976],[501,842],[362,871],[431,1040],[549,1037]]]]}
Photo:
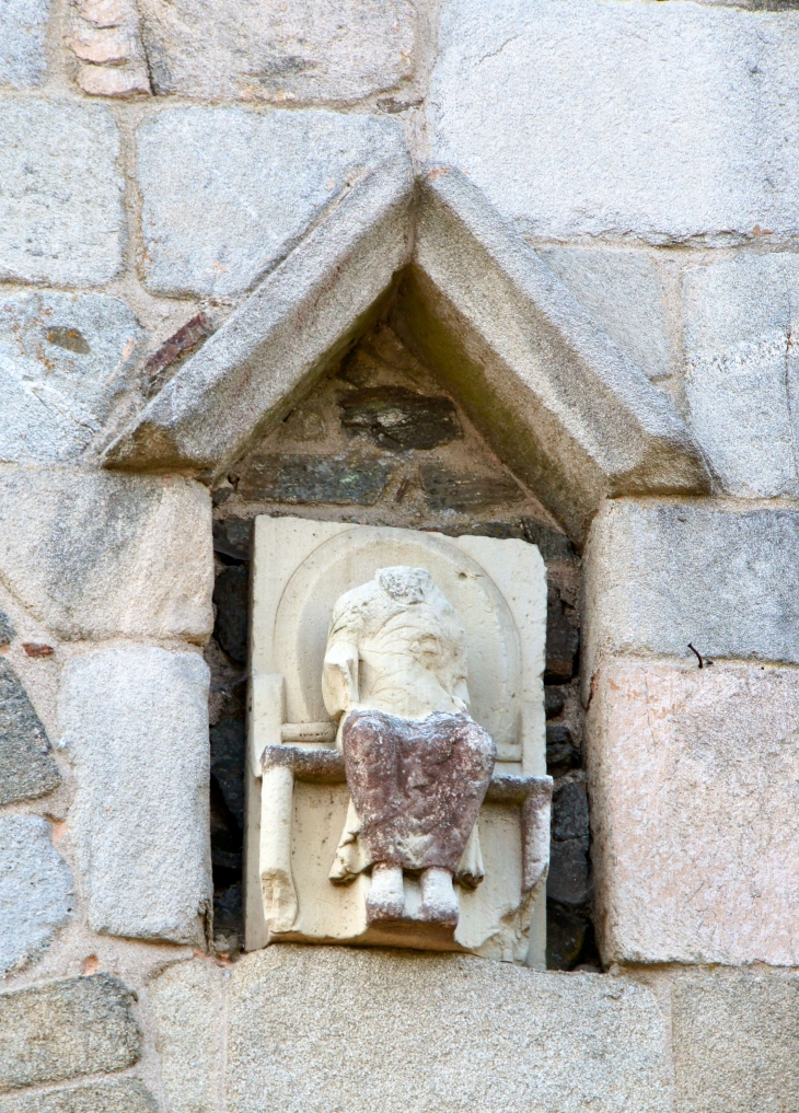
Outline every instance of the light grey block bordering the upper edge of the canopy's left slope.
{"type": "Polygon", "coordinates": [[[145,284],[221,296],[263,278],[403,140],[395,122],[367,116],[179,108],[144,124],[138,149],[145,284]]]}

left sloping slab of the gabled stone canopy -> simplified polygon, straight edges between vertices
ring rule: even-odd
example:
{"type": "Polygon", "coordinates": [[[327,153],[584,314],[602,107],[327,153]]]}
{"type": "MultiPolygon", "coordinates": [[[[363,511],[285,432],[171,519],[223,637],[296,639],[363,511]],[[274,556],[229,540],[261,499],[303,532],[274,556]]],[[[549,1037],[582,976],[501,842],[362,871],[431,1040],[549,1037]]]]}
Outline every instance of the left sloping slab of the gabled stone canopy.
{"type": "MultiPolygon", "coordinates": [[[[284,114],[275,115],[284,119],[284,114]]],[[[302,131],[305,114],[285,115],[294,124],[276,126],[302,131]]],[[[344,119],[345,130],[375,128],[373,158],[364,173],[337,204],[317,214],[308,235],[109,446],[109,466],[178,465],[219,479],[290,413],[314,378],[335,365],[376,315],[379,298],[410,254],[411,164],[401,132],[364,117],[358,117],[361,124],[355,117],[344,119]]],[[[329,117],[325,127],[333,127],[329,117]]],[[[277,173],[275,161],[268,165],[277,173]]],[[[171,156],[169,173],[175,174],[171,156]]],[[[278,180],[285,185],[288,179],[278,180]]],[[[297,209],[294,193],[286,204],[297,209]]],[[[199,244],[206,243],[205,207],[201,198],[191,206],[185,197],[180,201],[180,220],[189,209],[196,215],[199,244]]]]}

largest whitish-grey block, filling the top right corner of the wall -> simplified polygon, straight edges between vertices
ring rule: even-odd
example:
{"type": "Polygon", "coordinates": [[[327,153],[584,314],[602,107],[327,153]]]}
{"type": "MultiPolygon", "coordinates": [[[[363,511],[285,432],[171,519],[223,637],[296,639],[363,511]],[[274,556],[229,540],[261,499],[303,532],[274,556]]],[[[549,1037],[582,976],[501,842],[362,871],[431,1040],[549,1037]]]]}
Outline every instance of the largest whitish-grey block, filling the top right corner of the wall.
{"type": "Polygon", "coordinates": [[[433,157],[534,235],[793,235],[798,62],[795,12],[446,0],[433,157]]]}

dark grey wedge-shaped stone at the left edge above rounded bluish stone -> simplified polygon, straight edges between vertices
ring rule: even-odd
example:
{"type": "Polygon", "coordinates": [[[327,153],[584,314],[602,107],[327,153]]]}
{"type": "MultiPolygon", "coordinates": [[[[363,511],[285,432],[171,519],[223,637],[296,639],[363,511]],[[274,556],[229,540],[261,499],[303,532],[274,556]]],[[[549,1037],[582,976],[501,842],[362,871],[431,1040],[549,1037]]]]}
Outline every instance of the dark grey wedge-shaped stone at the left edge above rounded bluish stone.
{"type": "Polygon", "coordinates": [[[45,728],[13,669],[0,658],[0,804],[43,796],[60,784],[45,728]]]}

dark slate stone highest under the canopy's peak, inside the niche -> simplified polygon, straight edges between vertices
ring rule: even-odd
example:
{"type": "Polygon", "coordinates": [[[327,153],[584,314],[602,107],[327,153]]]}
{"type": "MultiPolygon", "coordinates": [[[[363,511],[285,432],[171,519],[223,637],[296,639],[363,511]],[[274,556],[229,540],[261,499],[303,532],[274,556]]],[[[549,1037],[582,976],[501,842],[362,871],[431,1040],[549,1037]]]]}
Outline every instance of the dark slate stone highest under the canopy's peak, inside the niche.
{"type": "Polygon", "coordinates": [[[414,394],[404,386],[372,386],[338,400],[342,424],[382,449],[435,449],[462,436],[450,398],[414,394]]]}

